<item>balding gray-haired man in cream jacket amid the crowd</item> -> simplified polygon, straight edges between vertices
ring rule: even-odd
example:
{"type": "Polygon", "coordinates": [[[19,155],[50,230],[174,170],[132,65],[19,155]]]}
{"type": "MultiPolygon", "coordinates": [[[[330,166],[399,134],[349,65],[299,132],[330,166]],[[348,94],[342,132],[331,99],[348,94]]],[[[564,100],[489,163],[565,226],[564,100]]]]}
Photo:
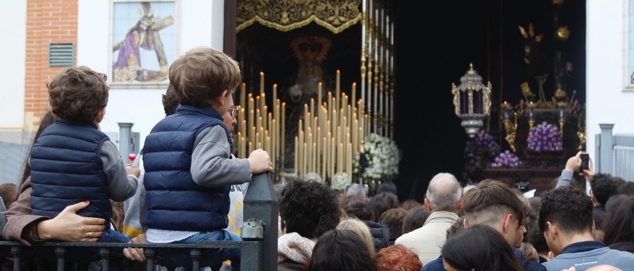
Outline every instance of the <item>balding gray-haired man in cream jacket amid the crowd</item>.
{"type": "Polygon", "coordinates": [[[395,242],[417,253],[423,265],[441,255],[447,229],[458,220],[456,213],[462,208],[462,187],[450,173],[438,173],[429,181],[426,196],[425,206],[431,215],[423,227],[403,234],[395,242]]]}

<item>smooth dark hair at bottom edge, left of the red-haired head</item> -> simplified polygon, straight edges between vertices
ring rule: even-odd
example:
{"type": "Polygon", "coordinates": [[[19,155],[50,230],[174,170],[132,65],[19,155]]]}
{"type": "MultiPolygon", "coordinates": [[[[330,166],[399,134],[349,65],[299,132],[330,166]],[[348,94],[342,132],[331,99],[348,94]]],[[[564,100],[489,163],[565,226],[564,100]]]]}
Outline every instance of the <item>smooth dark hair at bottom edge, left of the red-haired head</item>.
{"type": "Polygon", "coordinates": [[[372,254],[363,239],[351,230],[330,230],[313,248],[308,271],[375,271],[372,254]]]}

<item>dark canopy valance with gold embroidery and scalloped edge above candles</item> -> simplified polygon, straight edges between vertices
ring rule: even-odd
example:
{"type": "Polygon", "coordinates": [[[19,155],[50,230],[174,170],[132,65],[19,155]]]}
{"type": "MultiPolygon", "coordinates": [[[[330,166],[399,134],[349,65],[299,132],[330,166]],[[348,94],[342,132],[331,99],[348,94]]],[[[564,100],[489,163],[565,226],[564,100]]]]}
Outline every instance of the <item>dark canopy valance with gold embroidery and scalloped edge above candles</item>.
{"type": "Polygon", "coordinates": [[[254,22],[283,32],[315,22],[338,34],[361,20],[361,0],[238,0],[236,32],[254,22]]]}

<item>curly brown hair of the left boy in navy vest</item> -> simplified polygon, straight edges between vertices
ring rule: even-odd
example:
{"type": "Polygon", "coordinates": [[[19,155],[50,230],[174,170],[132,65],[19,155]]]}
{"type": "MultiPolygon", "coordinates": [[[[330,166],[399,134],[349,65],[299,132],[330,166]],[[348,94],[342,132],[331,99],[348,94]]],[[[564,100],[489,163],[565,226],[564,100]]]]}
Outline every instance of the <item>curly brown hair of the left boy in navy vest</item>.
{"type": "Polygon", "coordinates": [[[51,111],[72,122],[94,122],[108,104],[106,79],[87,66],[64,68],[46,85],[51,111]]]}

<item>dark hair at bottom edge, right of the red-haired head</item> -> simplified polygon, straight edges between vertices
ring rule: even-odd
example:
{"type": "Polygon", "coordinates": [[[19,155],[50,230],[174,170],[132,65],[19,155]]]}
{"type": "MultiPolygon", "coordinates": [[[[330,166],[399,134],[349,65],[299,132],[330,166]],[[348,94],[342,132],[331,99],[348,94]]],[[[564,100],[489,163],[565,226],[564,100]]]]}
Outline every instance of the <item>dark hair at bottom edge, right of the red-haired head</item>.
{"type": "Polygon", "coordinates": [[[495,229],[474,225],[446,241],[444,261],[457,270],[524,270],[510,244],[495,229]]]}

